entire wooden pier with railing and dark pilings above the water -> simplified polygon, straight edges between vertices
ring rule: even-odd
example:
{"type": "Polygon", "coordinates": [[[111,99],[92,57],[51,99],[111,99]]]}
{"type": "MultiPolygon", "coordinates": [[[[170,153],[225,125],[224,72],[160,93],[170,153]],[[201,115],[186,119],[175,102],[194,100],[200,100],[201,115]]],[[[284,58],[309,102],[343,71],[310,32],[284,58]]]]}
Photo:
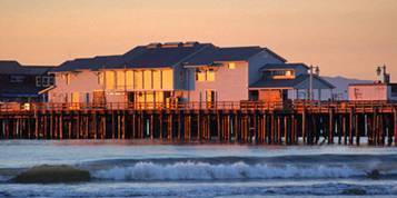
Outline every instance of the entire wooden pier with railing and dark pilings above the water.
{"type": "Polygon", "coordinates": [[[2,103],[0,127],[0,139],[397,146],[397,103],[2,103]]]}

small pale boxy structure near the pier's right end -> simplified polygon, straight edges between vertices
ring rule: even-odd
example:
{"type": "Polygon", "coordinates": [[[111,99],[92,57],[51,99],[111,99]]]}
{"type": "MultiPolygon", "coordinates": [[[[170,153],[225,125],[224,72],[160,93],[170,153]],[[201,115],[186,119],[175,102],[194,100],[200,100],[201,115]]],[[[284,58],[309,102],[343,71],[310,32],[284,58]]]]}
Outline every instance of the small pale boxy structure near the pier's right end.
{"type": "Polygon", "coordinates": [[[351,101],[387,100],[388,89],[386,85],[359,85],[349,86],[348,95],[351,101]]]}

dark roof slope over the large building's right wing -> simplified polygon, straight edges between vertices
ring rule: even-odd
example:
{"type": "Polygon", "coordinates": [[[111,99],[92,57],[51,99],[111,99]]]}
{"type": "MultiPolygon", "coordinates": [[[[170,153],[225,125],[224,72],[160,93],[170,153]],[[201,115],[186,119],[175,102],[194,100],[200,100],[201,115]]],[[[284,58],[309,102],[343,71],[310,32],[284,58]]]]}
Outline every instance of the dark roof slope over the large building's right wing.
{"type": "Polygon", "coordinates": [[[211,65],[218,61],[241,61],[248,60],[252,56],[266,51],[260,47],[237,47],[237,48],[208,48],[185,61],[189,66],[211,65]]]}

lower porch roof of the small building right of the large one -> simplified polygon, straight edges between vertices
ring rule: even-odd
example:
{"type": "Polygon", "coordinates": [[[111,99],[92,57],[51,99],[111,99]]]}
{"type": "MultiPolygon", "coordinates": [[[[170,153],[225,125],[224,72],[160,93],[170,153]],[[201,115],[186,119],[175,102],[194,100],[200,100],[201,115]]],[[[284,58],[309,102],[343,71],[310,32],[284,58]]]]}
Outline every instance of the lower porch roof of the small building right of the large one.
{"type": "MultiPolygon", "coordinates": [[[[320,83],[324,83],[329,89],[334,89],[335,86],[324,80],[318,76],[312,76],[315,80],[318,80],[320,83]]],[[[299,75],[295,79],[259,79],[258,81],[251,83],[249,88],[267,88],[267,89],[277,89],[277,88],[297,88],[300,83],[308,80],[310,75],[299,75]]]]}

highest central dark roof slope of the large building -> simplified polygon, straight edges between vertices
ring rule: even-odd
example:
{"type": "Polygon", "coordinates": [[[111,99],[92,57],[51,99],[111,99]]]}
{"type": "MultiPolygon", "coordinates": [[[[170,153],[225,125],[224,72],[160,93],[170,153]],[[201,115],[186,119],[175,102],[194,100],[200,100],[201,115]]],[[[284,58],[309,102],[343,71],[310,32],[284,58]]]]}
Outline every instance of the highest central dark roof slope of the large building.
{"type": "Polygon", "coordinates": [[[140,46],[122,56],[128,68],[161,68],[172,67],[185,59],[207,48],[214,48],[209,43],[175,47],[140,46]]]}

